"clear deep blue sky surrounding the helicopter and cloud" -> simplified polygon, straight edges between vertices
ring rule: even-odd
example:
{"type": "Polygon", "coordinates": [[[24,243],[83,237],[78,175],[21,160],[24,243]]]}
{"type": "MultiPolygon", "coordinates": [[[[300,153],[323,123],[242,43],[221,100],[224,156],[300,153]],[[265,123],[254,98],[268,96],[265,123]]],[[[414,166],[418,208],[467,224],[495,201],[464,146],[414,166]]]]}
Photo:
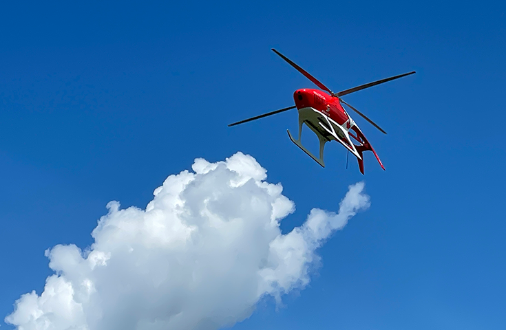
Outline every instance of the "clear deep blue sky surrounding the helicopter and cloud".
{"type": "Polygon", "coordinates": [[[0,30],[1,319],[107,202],[144,208],[194,158],[242,151],[295,202],[284,231],[362,179],[371,207],[309,287],[233,329],[506,327],[505,3],[27,1],[0,30]],[[346,170],[337,144],[320,168],[286,136],[293,111],[226,126],[313,88],[271,47],[335,91],[417,71],[344,98],[388,132],[354,116],[386,171],[372,153],[346,170]]]}

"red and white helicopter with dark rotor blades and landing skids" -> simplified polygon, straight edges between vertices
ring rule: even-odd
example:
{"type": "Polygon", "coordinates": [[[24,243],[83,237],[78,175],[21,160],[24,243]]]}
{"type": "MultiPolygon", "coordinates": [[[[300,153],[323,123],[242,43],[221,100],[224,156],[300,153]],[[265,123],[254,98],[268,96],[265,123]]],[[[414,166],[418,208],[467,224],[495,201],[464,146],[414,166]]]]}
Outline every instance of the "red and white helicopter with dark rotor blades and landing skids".
{"type": "MultiPolygon", "coordinates": [[[[372,122],[369,118],[366,117],[363,113],[352,107],[350,104],[341,99],[341,96],[345,96],[350,93],[354,93],[355,91],[360,91],[361,89],[366,89],[372,86],[376,86],[382,83],[386,83],[390,80],[402,78],[405,76],[409,76],[410,74],[414,74],[415,72],[408,72],[407,74],[399,74],[399,76],[393,76],[390,78],[385,78],[381,80],[374,81],[372,83],[368,83],[365,85],[360,85],[357,87],[353,87],[350,89],[346,89],[344,91],[339,91],[339,93],[334,93],[330,89],[328,89],[324,84],[320,83],[317,78],[311,76],[306,72],[302,67],[293,63],[289,58],[277,52],[274,48],[272,49],[277,55],[281,56],[284,61],[288,62],[291,66],[295,67],[298,72],[304,74],[306,78],[311,80],[315,85],[317,85],[319,89],[297,89],[293,94],[293,99],[295,100],[295,106],[272,111],[269,113],[264,113],[263,115],[257,115],[253,118],[249,118],[246,120],[241,120],[240,122],[234,122],[233,124],[229,124],[229,126],[234,126],[237,124],[242,124],[244,122],[250,122],[251,120],[256,120],[260,118],[264,118],[268,115],[274,115],[276,113],[281,113],[283,111],[287,111],[290,109],[297,108],[299,111],[299,138],[295,140],[290,131],[288,132],[288,137],[290,140],[297,144],[299,148],[302,149],[305,153],[307,153],[311,158],[315,159],[315,161],[320,164],[322,167],[325,167],[324,163],[324,146],[326,142],[337,141],[342,144],[348,151],[350,151],[355,157],[357,157],[359,161],[360,172],[363,174],[363,151],[372,151],[375,154],[376,159],[378,159],[379,165],[383,170],[385,166],[381,163],[375,149],[372,148],[366,137],[363,135],[362,131],[359,129],[359,126],[351,119],[350,115],[344,109],[342,104],[346,104],[347,107],[361,115],[365,120],[370,122],[373,126],[379,129],[381,132],[386,134],[386,131],[383,131],[381,127],[379,127],[375,122],[372,122]],[[304,146],[302,145],[300,138],[302,135],[302,124],[306,124],[319,139],[319,157],[310,153],[304,146]],[[353,140],[357,144],[355,144],[353,140]]],[[[348,163],[347,163],[348,164],[348,163]]],[[[347,165],[348,166],[348,165],[347,165]]]]}

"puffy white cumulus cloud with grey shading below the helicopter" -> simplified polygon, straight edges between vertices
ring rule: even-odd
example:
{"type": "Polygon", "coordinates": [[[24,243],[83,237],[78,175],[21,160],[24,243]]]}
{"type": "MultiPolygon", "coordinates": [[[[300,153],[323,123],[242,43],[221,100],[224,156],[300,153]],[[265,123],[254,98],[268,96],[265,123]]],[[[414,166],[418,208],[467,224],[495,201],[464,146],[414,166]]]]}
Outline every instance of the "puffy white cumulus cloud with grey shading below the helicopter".
{"type": "Polygon", "coordinates": [[[6,322],[18,330],[231,326],[262,298],[303,289],[317,248],[369,206],[360,182],[339,212],[315,208],[282,234],[295,205],[253,157],[196,159],[192,169],[167,177],[145,210],[108,203],[89,248],[46,251],[54,274],[40,296],[21,296],[6,322]]]}

